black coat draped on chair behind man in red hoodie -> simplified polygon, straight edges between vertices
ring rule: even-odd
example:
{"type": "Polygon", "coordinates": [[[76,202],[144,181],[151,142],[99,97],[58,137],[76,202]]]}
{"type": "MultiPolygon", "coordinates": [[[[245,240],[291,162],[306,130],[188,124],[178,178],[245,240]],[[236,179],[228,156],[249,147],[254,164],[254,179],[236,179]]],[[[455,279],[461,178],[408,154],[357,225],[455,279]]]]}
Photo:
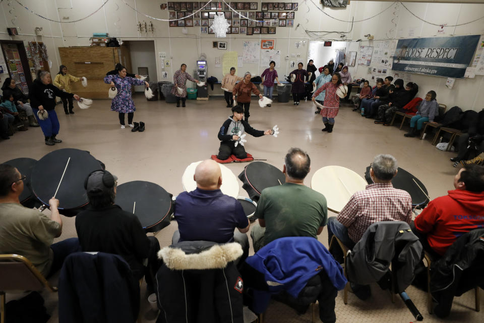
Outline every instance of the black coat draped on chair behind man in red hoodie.
{"type": "Polygon", "coordinates": [[[484,287],[484,229],[458,238],[442,258],[432,262],[430,290],[438,305],[437,316],[449,315],[454,296],[484,287]]]}

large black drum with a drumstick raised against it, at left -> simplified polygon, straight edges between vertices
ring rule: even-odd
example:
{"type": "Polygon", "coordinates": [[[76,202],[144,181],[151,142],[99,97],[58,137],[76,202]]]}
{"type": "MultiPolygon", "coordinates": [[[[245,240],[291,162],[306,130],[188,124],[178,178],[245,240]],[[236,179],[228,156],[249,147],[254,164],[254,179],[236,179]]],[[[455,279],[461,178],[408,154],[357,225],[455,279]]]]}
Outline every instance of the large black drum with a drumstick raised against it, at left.
{"type": "Polygon", "coordinates": [[[32,192],[42,203],[48,205],[66,170],[55,196],[60,202],[59,209],[80,208],[89,202],[84,181],[89,174],[100,169],[99,161],[85,150],[73,148],[54,150],[40,158],[32,169],[32,192]],[[71,159],[66,169],[69,157],[71,159]]]}

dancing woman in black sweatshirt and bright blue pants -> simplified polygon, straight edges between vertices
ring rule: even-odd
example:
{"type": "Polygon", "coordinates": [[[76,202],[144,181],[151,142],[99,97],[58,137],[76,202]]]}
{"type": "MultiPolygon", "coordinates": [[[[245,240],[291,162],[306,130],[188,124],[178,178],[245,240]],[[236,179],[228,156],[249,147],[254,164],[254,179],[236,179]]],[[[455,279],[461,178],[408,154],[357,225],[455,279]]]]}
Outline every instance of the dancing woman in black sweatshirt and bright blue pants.
{"type": "Polygon", "coordinates": [[[55,113],[55,97],[72,98],[79,100],[79,95],[64,92],[58,87],[51,84],[50,73],[47,71],[38,71],[37,79],[30,88],[30,106],[37,118],[37,121],[45,136],[45,144],[52,146],[55,143],[62,142],[62,140],[55,138],[59,133],[59,120],[55,113]],[[39,111],[44,116],[44,120],[40,120],[39,111]],[[48,116],[48,118],[47,118],[48,116]]]}

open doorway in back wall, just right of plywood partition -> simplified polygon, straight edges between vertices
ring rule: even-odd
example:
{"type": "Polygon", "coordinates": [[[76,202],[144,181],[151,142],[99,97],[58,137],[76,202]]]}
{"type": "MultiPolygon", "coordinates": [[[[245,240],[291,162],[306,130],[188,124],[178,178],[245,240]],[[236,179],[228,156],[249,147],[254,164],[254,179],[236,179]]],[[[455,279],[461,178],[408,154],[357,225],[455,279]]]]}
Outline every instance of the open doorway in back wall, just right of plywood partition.
{"type": "MultiPolygon", "coordinates": [[[[156,52],[154,40],[130,40],[126,41],[130,46],[131,67],[133,74],[148,76],[147,82],[157,82],[156,52]]],[[[135,92],[143,92],[145,87],[134,86],[135,92]]]]}

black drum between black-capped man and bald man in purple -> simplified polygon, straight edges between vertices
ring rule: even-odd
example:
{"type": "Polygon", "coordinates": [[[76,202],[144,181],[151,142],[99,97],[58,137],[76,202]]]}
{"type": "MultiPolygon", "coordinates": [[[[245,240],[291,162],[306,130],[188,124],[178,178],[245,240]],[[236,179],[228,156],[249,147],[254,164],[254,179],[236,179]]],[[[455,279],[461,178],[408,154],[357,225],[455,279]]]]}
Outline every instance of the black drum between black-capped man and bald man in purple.
{"type": "Polygon", "coordinates": [[[122,209],[133,212],[146,232],[156,232],[170,224],[172,195],[161,186],[133,181],[116,188],[116,201],[122,209]]]}

